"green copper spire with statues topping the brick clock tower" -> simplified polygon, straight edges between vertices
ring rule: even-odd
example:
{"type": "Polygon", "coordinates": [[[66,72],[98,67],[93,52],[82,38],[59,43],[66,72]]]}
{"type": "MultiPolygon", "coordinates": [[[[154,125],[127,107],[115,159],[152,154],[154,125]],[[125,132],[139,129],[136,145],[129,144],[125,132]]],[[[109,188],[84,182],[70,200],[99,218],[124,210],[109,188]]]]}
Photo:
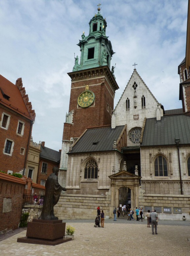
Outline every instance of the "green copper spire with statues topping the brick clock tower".
{"type": "MultiPolygon", "coordinates": [[[[99,4],[100,5],[100,4],[99,4]]],[[[80,46],[81,57],[78,63],[78,55],[75,58],[75,65],[72,71],[78,71],[88,68],[108,65],[114,54],[111,42],[106,36],[106,19],[100,14],[98,5],[98,13],[89,22],[89,35],[82,34],[82,40],[77,44],[80,46]]]]}

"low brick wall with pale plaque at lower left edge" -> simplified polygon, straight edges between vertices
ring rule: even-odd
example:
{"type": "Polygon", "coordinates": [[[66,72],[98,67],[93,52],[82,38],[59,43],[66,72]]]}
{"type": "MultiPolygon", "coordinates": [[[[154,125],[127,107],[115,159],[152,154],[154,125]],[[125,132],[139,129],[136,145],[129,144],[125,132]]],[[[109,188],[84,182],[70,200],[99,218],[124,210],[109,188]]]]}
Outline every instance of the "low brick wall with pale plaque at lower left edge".
{"type": "Polygon", "coordinates": [[[0,173],[0,233],[18,228],[25,181],[0,173]]]}

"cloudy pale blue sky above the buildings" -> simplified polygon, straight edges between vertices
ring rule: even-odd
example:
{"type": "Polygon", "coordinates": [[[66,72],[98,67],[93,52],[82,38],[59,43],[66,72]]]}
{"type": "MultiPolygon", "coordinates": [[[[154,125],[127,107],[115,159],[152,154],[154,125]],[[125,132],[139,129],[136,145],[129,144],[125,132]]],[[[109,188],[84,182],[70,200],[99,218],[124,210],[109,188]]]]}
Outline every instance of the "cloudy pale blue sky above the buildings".
{"type": "MultiPolygon", "coordinates": [[[[74,54],[83,31],[97,14],[95,0],[0,1],[0,74],[23,87],[36,112],[33,141],[62,147],[69,108],[74,54]]],[[[181,108],[178,65],[185,57],[188,0],[102,0],[115,54],[117,105],[134,63],[145,84],[165,110],[181,108]]]]}

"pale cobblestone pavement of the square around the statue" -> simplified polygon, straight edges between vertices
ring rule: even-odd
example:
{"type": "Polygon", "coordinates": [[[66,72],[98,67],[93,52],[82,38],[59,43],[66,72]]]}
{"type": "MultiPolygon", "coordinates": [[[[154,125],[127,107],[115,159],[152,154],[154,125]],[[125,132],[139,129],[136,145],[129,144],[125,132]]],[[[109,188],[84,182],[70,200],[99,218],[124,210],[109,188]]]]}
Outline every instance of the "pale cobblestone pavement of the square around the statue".
{"type": "Polygon", "coordinates": [[[73,256],[73,255],[190,255],[190,223],[160,221],[158,235],[152,235],[147,221],[106,219],[104,228],[95,228],[95,220],[66,220],[76,228],[74,240],[55,246],[17,243],[26,236],[26,229],[17,229],[0,236],[1,256],[73,256]]]}

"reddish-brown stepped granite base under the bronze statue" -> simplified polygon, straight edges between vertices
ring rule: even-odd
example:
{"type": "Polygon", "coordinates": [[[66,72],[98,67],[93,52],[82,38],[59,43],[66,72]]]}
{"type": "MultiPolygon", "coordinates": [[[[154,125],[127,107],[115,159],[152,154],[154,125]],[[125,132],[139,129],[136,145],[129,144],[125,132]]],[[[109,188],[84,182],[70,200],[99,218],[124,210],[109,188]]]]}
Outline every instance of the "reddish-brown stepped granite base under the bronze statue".
{"type": "Polygon", "coordinates": [[[66,223],[62,220],[38,220],[28,222],[26,237],[17,238],[17,242],[45,245],[57,245],[72,238],[65,237],[66,223]]]}

